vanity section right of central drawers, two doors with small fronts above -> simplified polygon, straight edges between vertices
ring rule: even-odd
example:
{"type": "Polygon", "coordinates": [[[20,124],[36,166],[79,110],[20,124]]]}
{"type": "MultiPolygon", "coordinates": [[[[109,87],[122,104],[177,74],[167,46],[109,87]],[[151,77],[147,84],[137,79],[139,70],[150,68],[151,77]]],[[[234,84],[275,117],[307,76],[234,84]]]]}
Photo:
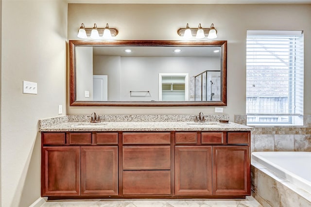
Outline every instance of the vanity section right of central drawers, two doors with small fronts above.
{"type": "Polygon", "coordinates": [[[194,135],[175,136],[175,194],[250,195],[250,133],[201,132],[198,139],[194,135]]]}

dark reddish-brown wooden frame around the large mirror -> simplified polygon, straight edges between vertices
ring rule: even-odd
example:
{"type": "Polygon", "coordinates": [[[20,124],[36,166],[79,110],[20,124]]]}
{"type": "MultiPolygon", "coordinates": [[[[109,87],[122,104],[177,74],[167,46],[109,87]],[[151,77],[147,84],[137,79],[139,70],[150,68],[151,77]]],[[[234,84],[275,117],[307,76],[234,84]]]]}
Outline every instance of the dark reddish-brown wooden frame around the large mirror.
{"type": "Polygon", "coordinates": [[[69,40],[69,101],[70,106],[226,106],[227,105],[227,41],[174,40],[69,40]],[[189,46],[221,47],[222,100],[221,101],[77,101],[76,100],[76,46],[189,46]]]}

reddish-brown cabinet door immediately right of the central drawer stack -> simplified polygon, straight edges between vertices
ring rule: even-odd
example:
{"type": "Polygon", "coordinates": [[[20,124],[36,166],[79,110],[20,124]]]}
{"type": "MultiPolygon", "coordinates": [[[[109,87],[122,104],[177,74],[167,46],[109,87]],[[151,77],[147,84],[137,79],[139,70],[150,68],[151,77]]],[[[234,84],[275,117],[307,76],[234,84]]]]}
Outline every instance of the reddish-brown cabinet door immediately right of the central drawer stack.
{"type": "Polygon", "coordinates": [[[175,194],[210,195],[212,147],[175,147],[175,194]]]}

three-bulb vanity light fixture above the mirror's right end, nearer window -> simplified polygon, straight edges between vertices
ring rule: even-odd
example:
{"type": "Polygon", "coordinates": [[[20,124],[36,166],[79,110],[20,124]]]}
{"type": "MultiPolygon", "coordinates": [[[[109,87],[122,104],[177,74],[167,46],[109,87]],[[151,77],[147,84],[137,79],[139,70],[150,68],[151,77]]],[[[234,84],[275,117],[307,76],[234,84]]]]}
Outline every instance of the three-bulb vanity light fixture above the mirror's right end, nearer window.
{"type": "Polygon", "coordinates": [[[217,38],[217,30],[215,29],[214,24],[211,24],[210,28],[202,28],[201,23],[198,28],[190,28],[187,24],[186,28],[179,28],[177,33],[185,39],[190,39],[193,36],[195,36],[196,39],[203,39],[206,36],[208,39],[217,38]]]}

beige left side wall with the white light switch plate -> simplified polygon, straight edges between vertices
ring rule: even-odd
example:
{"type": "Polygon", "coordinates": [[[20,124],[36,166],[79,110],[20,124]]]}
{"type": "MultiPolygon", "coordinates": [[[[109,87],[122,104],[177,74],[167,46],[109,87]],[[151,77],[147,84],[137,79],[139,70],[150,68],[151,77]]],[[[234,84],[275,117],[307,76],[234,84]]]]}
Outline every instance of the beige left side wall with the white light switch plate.
{"type": "Polygon", "coordinates": [[[66,105],[67,3],[3,0],[1,17],[2,206],[28,207],[40,197],[38,119],[66,105]],[[22,94],[23,80],[38,94],[22,94]]]}

